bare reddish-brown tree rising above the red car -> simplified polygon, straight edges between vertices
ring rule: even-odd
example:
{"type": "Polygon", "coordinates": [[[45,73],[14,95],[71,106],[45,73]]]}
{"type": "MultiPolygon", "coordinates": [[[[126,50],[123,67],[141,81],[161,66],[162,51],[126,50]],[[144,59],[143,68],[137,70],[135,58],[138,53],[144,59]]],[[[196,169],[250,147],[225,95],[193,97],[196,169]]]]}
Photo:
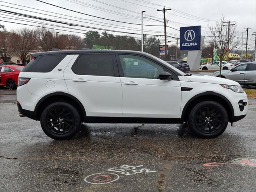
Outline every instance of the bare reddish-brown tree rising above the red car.
{"type": "Polygon", "coordinates": [[[28,28],[23,28],[21,30],[13,31],[11,33],[11,38],[14,55],[20,58],[22,64],[25,65],[27,55],[36,48],[36,33],[28,28]]]}

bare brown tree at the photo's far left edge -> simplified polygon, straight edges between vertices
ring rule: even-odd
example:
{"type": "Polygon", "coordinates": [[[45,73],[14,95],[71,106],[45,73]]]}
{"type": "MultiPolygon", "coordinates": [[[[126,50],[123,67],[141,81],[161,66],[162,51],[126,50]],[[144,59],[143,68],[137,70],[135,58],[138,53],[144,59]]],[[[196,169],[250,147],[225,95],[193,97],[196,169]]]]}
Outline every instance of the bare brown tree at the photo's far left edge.
{"type": "Polygon", "coordinates": [[[4,62],[10,62],[14,54],[11,42],[10,32],[0,31],[0,56],[4,62]]]}

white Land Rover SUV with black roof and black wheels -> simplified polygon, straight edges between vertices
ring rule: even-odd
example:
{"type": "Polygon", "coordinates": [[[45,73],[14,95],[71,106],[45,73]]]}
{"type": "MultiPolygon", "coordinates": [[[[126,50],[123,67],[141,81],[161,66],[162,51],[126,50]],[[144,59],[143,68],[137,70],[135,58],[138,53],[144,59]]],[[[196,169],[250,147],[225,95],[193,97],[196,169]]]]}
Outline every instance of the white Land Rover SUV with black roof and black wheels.
{"type": "Polygon", "coordinates": [[[247,96],[232,80],[185,74],[136,51],[32,53],[20,72],[20,116],[40,120],[51,138],[74,136],[86,123],[183,123],[214,138],[246,116],[247,96]]]}

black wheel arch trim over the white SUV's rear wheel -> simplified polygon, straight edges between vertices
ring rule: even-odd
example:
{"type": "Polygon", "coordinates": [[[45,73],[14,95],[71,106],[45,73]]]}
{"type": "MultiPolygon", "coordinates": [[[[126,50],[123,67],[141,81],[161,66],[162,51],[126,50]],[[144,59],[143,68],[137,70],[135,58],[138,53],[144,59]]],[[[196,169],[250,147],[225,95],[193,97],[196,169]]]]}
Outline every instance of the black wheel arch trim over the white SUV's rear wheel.
{"type": "Polygon", "coordinates": [[[84,122],[86,118],[86,111],[83,104],[74,96],[65,92],[54,92],[41,98],[36,104],[34,112],[36,112],[37,120],[40,120],[41,114],[46,106],[53,102],[67,102],[74,106],[80,114],[81,122],[84,122]]]}

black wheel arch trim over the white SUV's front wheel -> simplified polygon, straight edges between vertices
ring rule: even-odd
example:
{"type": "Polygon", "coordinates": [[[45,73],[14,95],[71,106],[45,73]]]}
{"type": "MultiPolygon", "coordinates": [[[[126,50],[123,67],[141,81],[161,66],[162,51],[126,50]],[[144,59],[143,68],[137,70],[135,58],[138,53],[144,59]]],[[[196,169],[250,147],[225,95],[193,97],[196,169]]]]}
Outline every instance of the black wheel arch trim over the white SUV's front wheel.
{"type": "Polygon", "coordinates": [[[233,108],[232,104],[230,103],[230,101],[222,94],[218,94],[213,91],[206,91],[204,93],[197,94],[196,96],[194,96],[190,100],[188,100],[188,102],[186,103],[186,105],[184,106],[184,108],[182,110],[182,116],[181,116],[182,120],[186,121],[188,119],[188,115],[189,115],[190,111],[192,110],[192,108],[199,102],[206,101],[206,100],[215,101],[215,102],[222,104],[222,106],[224,106],[224,108],[226,109],[226,111],[228,113],[228,121],[231,122],[233,120],[234,108],[233,108]]]}

